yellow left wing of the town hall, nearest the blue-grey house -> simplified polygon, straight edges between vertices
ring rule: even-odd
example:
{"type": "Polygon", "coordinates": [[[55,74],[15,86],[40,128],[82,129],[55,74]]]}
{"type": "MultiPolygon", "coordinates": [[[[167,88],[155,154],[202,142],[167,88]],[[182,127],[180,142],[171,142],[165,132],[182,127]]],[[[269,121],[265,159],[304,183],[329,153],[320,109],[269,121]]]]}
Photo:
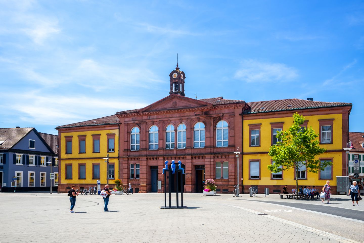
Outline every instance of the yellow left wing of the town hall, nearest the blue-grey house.
{"type": "Polygon", "coordinates": [[[58,126],[59,184],[66,192],[71,184],[77,188],[114,183],[119,178],[119,119],[115,115],[58,126]],[[103,159],[109,155],[109,163],[103,159]]]}

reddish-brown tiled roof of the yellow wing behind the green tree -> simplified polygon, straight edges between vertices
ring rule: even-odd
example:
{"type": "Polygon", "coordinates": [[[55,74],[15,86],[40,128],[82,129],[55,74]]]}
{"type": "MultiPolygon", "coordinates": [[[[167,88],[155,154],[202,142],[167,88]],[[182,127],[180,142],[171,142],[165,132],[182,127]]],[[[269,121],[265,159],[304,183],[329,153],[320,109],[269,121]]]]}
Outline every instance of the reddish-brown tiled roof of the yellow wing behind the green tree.
{"type": "Polygon", "coordinates": [[[274,101],[256,101],[247,103],[251,109],[245,110],[244,113],[259,113],[279,110],[297,110],[308,108],[320,108],[330,106],[348,106],[351,103],[343,102],[323,102],[323,101],[308,101],[305,99],[277,99],[274,101]]]}

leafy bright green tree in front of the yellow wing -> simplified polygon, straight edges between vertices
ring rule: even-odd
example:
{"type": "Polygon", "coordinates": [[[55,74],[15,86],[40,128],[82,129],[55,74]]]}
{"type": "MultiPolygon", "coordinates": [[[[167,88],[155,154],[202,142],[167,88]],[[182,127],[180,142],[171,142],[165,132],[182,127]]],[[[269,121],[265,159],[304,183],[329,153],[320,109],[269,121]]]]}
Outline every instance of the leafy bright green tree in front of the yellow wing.
{"type": "Polygon", "coordinates": [[[326,151],[320,148],[316,139],[318,134],[310,126],[301,128],[305,118],[297,112],[293,114],[293,124],[287,131],[277,132],[278,142],[270,146],[269,156],[274,163],[268,165],[268,170],[278,173],[288,169],[296,170],[296,195],[298,195],[298,170],[306,166],[307,171],[318,173],[327,166],[332,165],[331,161],[315,160],[315,157],[326,151]]]}

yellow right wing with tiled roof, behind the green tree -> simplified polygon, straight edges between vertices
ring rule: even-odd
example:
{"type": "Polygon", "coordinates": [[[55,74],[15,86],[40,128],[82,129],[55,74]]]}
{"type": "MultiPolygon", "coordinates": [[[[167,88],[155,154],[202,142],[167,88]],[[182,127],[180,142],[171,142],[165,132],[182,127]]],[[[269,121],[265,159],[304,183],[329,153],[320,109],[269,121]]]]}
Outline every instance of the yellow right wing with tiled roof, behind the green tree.
{"type": "Polygon", "coordinates": [[[336,193],[336,176],[347,175],[345,152],[348,141],[348,122],[351,103],[318,102],[302,99],[283,99],[276,101],[249,102],[250,110],[243,113],[243,178],[244,191],[258,186],[259,192],[265,187],[270,193],[282,192],[288,185],[289,192],[296,187],[294,169],[274,174],[267,165],[272,163],[268,155],[269,147],[277,142],[276,133],[287,130],[293,124],[296,111],[305,117],[302,126],[309,127],[319,134],[320,146],[327,151],[317,159],[331,160],[333,165],[325,171],[312,173],[305,168],[298,171],[298,185],[322,188],[331,181],[336,193]]]}

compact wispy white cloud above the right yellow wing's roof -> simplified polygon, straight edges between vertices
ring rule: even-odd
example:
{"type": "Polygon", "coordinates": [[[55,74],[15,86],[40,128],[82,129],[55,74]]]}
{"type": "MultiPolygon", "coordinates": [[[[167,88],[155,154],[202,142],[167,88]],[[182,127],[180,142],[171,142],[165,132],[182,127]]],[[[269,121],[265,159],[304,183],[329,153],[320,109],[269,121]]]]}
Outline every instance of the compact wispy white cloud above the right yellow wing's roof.
{"type": "Polygon", "coordinates": [[[267,63],[257,60],[244,60],[234,78],[246,82],[284,82],[298,77],[296,68],[283,63],[267,63]]]}

